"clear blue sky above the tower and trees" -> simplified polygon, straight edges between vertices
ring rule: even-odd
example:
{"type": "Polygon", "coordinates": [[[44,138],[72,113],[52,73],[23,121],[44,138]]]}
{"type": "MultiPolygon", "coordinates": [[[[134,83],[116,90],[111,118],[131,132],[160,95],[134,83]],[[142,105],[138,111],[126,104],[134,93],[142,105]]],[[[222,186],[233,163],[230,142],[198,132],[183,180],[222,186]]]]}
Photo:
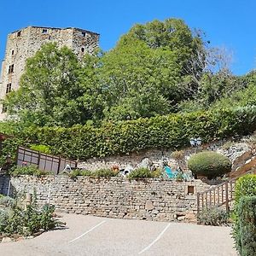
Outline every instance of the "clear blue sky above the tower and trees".
{"type": "Polygon", "coordinates": [[[233,52],[232,71],[256,67],[255,0],[3,0],[0,3],[0,59],[6,37],[25,26],[75,26],[101,34],[100,46],[113,48],[136,23],[181,18],[201,28],[212,46],[233,52]]]}

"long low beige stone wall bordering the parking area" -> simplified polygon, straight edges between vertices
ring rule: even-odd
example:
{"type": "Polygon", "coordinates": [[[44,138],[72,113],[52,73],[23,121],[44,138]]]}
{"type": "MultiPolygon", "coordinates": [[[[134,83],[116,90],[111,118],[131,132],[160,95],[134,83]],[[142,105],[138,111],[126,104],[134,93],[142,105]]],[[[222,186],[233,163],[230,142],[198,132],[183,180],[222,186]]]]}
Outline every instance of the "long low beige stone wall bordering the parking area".
{"type": "MultiPolygon", "coordinates": [[[[7,194],[9,177],[2,177],[2,183],[7,194]]],[[[11,177],[10,184],[10,193],[36,189],[39,205],[49,201],[63,212],[160,221],[195,220],[196,192],[209,188],[201,180],[130,182],[123,177],[21,176],[11,177]]]]}

